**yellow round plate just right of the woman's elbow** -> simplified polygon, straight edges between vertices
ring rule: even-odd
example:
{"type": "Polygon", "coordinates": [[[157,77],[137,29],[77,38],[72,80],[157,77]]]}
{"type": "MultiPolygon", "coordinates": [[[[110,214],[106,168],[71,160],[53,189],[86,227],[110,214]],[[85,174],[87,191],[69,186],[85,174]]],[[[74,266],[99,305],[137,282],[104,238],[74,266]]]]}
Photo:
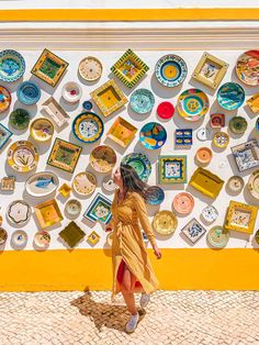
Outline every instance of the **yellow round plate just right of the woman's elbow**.
{"type": "Polygon", "coordinates": [[[172,234],[178,225],[174,213],[170,211],[159,211],[153,219],[153,227],[160,235],[172,234]]]}

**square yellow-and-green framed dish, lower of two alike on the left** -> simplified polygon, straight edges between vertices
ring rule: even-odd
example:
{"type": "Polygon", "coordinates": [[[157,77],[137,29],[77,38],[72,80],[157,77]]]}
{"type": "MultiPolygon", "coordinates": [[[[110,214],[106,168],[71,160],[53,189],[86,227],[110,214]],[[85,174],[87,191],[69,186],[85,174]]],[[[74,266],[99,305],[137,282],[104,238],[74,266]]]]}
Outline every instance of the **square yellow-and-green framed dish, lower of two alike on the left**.
{"type": "Polygon", "coordinates": [[[47,164],[67,172],[74,172],[82,147],[56,137],[47,164]]]}

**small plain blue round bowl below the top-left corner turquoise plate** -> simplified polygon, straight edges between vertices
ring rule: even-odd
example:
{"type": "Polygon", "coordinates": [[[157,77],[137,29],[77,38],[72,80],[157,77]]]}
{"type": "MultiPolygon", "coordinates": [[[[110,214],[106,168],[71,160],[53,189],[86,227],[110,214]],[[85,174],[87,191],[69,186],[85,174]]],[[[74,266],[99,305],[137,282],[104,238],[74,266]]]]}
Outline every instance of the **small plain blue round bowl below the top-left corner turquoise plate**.
{"type": "Polygon", "coordinates": [[[18,88],[18,99],[25,105],[35,104],[41,98],[41,90],[35,82],[23,81],[18,88]]]}

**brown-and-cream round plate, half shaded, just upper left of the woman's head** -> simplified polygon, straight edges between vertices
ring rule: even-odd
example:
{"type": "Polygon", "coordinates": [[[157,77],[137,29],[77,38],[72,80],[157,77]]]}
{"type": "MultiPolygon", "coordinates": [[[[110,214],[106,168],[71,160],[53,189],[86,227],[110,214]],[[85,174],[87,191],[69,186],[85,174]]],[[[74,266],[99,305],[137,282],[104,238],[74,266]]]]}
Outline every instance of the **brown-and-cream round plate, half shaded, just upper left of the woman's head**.
{"type": "Polygon", "coordinates": [[[90,165],[98,172],[109,172],[116,164],[114,149],[106,145],[95,147],[90,155],[90,165]]]}

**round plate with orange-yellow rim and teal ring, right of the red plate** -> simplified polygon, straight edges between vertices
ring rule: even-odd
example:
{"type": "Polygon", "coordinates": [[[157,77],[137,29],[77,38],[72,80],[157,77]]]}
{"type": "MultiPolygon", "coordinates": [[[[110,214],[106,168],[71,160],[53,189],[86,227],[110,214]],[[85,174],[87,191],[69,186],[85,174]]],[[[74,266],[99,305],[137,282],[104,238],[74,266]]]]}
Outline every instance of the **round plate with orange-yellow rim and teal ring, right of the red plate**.
{"type": "Polygon", "coordinates": [[[177,109],[179,114],[187,121],[198,121],[209,111],[209,98],[199,89],[183,91],[178,98],[177,109]]]}

